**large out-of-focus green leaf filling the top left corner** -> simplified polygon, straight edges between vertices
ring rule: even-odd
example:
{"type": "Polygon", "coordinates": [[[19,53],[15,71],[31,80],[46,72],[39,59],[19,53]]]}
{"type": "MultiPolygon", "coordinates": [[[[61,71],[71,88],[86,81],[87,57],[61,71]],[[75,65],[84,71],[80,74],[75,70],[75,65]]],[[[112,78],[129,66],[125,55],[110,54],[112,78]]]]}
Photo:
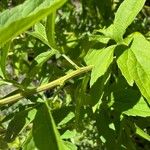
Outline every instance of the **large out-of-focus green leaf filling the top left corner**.
{"type": "Polygon", "coordinates": [[[0,14],[0,45],[56,11],[65,2],[66,0],[27,0],[22,5],[5,10],[0,14]]]}

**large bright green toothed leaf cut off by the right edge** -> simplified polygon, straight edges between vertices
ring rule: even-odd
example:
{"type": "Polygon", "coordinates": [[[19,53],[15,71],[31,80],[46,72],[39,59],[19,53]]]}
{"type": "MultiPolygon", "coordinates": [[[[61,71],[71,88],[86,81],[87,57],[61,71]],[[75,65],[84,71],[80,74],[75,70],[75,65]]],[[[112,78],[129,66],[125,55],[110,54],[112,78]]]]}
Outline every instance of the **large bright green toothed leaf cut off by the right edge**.
{"type": "Polygon", "coordinates": [[[118,58],[118,66],[128,83],[133,80],[150,103],[150,42],[140,33],[133,34],[130,48],[118,58]],[[125,65],[123,65],[125,64],[125,65]],[[125,73],[127,70],[128,73],[125,73]]]}

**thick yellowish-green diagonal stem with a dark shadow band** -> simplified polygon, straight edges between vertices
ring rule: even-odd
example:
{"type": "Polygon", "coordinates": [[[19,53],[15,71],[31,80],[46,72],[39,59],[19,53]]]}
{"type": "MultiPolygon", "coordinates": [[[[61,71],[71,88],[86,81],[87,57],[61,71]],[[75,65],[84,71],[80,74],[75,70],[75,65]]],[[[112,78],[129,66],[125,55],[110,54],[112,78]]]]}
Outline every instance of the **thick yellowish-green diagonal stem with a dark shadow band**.
{"type": "Polygon", "coordinates": [[[56,86],[62,86],[62,85],[64,85],[64,83],[67,80],[69,80],[69,79],[71,79],[71,78],[73,78],[75,76],[78,76],[80,74],[83,74],[83,73],[86,73],[88,71],[91,71],[92,68],[93,68],[92,65],[86,66],[86,67],[81,67],[81,68],[79,68],[79,69],[77,69],[75,71],[72,71],[71,73],[69,73],[69,74],[67,74],[67,75],[65,75],[63,77],[60,77],[59,79],[56,79],[56,80],[54,80],[54,81],[52,81],[52,82],[50,82],[48,84],[44,84],[44,85],[41,85],[41,86],[39,86],[39,87],[37,87],[35,89],[32,89],[29,92],[22,92],[22,93],[18,93],[18,94],[15,94],[15,95],[3,98],[3,99],[0,100],[0,106],[6,105],[6,104],[9,104],[9,103],[14,103],[14,102],[18,101],[21,98],[24,98],[24,97],[29,96],[29,95],[33,95],[35,93],[39,93],[39,92],[45,91],[47,89],[52,89],[52,88],[54,88],[56,86]]]}

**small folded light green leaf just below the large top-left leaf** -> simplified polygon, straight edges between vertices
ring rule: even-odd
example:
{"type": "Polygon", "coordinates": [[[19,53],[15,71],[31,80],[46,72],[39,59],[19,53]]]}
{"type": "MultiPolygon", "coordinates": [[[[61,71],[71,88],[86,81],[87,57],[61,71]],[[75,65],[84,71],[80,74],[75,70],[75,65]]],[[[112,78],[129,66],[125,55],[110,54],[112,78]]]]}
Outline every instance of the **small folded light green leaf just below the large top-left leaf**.
{"type": "Polygon", "coordinates": [[[41,40],[44,44],[50,47],[46,37],[45,27],[41,23],[37,23],[34,26],[34,30],[35,30],[34,32],[26,32],[26,33],[41,40]]]}

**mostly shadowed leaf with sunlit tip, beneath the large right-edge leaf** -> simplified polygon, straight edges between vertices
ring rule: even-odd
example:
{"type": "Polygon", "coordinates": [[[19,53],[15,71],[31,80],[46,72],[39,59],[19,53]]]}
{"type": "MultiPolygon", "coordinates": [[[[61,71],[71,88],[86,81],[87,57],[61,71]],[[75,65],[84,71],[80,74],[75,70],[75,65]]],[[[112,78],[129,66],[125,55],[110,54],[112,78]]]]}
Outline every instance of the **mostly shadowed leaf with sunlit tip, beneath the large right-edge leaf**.
{"type": "Polygon", "coordinates": [[[127,116],[150,116],[150,108],[138,90],[128,86],[125,80],[110,87],[112,90],[111,101],[116,112],[127,116]]]}

